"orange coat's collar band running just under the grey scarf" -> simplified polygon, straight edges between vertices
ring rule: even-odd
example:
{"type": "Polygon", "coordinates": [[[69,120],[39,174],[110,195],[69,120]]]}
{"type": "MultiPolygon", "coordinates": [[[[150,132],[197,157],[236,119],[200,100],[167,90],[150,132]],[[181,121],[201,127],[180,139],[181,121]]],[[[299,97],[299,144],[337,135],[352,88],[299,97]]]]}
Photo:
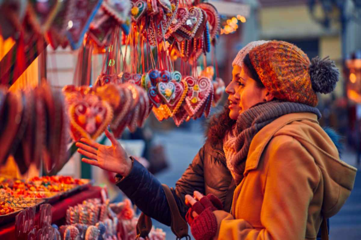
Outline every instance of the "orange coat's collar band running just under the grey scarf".
{"type": "Polygon", "coordinates": [[[258,167],[261,154],[278,130],[280,130],[286,124],[301,120],[310,120],[318,123],[317,115],[314,113],[290,113],[275,119],[273,122],[269,123],[259,132],[257,132],[257,134],[252,139],[251,145],[249,146],[244,175],[248,171],[258,167]]]}

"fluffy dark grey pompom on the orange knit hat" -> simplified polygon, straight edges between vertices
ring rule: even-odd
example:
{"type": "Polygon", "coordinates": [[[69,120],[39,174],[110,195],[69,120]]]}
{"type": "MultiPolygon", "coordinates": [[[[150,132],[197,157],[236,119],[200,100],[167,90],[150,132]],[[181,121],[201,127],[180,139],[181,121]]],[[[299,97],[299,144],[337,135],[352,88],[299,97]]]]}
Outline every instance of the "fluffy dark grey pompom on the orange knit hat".
{"type": "Polygon", "coordinates": [[[313,90],[323,94],[330,93],[335,89],[340,76],[335,62],[331,61],[328,56],[324,59],[320,59],[318,56],[312,58],[309,73],[313,90]]]}

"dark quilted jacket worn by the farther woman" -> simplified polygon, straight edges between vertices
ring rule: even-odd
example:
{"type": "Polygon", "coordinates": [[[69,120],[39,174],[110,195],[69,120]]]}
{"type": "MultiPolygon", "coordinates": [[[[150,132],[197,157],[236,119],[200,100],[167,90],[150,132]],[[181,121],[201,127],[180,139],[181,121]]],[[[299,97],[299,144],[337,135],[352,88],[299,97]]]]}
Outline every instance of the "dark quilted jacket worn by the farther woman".
{"type": "MultiPolygon", "coordinates": [[[[134,161],[130,174],[118,181],[117,186],[142,212],[170,226],[170,209],[162,185],[142,164],[134,161]]],[[[206,142],[171,190],[184,217],[188,210],[184,204],[186,194],[192,196],[195,190],[212,193],[222,200],[224,210],[229,212],[234,189],[221,145],[212,148],[206,142]]]]}

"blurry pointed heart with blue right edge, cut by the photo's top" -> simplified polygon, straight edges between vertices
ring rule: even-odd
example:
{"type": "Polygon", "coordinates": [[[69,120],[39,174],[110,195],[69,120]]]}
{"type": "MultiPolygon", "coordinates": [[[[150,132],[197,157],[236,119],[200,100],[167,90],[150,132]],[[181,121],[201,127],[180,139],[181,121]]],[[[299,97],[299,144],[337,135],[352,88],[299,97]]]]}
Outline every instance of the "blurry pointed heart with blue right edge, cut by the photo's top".
{"type": "Polygon", "coordinates": [[[73,18],[68,22],[66,36],[72,49],[78,49],[83,44],[84,34],[87,32],[90,22],[100,8],[101,0],[74,0],[74,8],[71,9],[73,18]]]}

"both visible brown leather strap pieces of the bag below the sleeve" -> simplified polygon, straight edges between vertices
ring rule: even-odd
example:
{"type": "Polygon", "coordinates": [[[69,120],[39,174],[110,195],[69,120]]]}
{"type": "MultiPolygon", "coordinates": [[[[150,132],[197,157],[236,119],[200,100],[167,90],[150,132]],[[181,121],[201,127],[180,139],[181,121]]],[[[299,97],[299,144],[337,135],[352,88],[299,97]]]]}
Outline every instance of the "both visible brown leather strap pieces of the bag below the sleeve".
{"type": "MultiPolygon", "coordinates": [[[[168,205],[171,213],[171,225],[170,228],[175,236],[178,239],[182,239],[183,237],[186,240],[190,240],[191,237],[188,235],[188,224],[186,220],[183,219],[181,213],[179,212],[177,203],[175,202],[174,196],[170,191],[169,187],[165,184],[162,184],[163,190],[165,192],[165,196],[168,201],[168,205]]],[[[152,220],[150,217],[145,215],[144,213],[140,214],[137,223],[137,237],[143,237],[144,239],[148,238],[148,234],[152,228],[152,220]]]]}

